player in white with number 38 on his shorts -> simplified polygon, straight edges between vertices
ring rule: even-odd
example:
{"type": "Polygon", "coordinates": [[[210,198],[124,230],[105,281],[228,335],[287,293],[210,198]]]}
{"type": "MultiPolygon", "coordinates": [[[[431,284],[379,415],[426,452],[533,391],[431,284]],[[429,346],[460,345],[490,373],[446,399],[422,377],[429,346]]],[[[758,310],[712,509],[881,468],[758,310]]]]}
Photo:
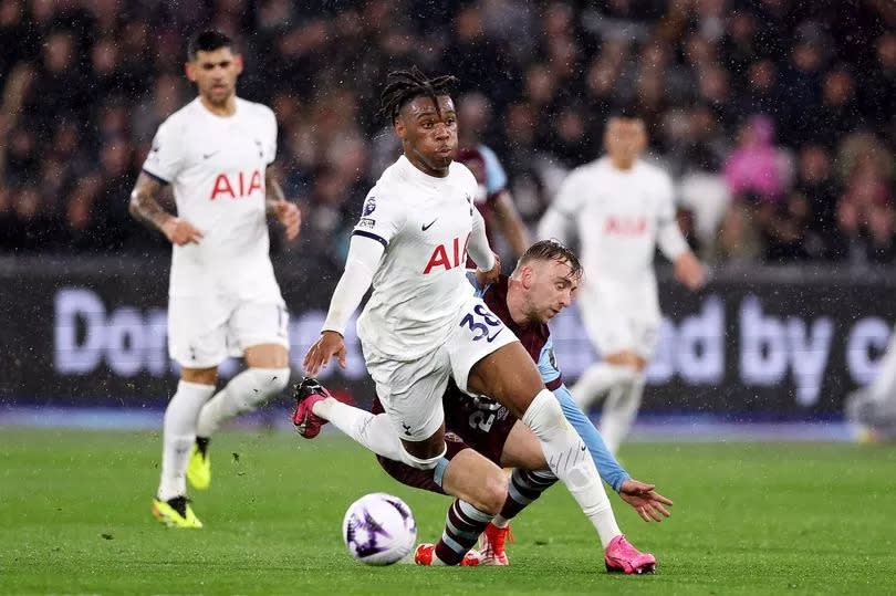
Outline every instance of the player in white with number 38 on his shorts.
{"type": "MultiPolygon", "coordinates": [[[[476,178],[452,163],[457,115],[448,87],[454,81],[427,79],[416,67],[389,74],[381,103],[404,155],[367,195],[345,271],[304,367],[316,376],[334,356],[344,366],[345,326],[373,283],[357,334],[387,416],[367,427],[372,449],[394,449],[408,466],[431,470],[439,483],[448,464],[441,398],[454,377],[461,390],[500,401],[534,431],[551,470],[606,548],[621,532],[585,443],[525,348],[467,282],[467,252],[490,279],[500,263],[472,205],[476,178]]],[[[467,532],[478,534],[491,520],[472,504],[462,509],[467,532]]]]}

